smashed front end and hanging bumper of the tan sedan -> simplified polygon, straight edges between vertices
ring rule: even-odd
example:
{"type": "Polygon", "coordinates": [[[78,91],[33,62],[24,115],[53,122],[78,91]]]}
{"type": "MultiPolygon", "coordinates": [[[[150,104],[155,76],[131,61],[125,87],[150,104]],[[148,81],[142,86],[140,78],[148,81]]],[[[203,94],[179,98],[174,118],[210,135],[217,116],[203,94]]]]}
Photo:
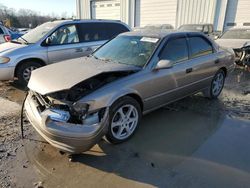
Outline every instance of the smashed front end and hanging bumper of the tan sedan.
{"type": "Polygon", "coordinates": [[[109,107],[90,108],[84,96],[134,71],[101,73],[68,90],[41,95],[29,91],[26,116],[36,131],[51,145],[69,153],[93,147],[108,131],[109,107]]]}

